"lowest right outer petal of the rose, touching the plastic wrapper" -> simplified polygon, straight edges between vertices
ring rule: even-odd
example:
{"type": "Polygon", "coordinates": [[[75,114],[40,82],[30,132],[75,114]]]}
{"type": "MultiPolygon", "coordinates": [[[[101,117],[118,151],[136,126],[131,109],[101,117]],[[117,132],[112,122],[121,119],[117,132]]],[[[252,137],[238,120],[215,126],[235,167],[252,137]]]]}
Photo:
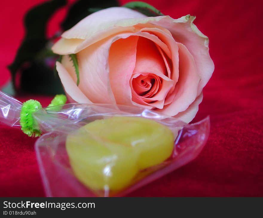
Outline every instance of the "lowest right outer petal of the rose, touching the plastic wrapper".
{"type": "Polygon", "coordinates": [[[203,93],[201,92],[201,94],[195,99],[195,101],[185,111],[178,113],[174,117],[186,123],[191,122],[192,119],[194,119],[198,111],[199,104],[202,102],[202,100],[203,100],[203,93]]]}

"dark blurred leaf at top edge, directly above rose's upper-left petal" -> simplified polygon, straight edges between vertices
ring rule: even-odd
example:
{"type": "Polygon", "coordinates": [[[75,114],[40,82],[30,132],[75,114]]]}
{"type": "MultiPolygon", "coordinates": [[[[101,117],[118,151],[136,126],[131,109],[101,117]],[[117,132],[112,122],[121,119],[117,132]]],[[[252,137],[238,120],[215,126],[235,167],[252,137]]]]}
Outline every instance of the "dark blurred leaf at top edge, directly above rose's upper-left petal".
{"type": "Polygon", "coordinates": [[[120,6],[117,0],[79,0],[71,6],[61,27],[68,30],[93,12],[117,6],[120,6]]]}

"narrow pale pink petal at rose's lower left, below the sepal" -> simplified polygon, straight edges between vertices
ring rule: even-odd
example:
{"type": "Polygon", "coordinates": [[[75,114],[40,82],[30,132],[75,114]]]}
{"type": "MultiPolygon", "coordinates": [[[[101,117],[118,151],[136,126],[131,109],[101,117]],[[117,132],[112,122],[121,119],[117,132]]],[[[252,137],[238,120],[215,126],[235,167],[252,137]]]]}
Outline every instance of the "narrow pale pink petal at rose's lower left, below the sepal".
{"type": "Polygon", "coordinates": [[[82,93],[82,91],[77,87],[76,82],[72,79],[70,73],[65,69],[65,67],[56,62],[56,69],[59,73],[62,85],[64,86],[65,92],[76,102],[91,103],[91,101],[82,93]]]}

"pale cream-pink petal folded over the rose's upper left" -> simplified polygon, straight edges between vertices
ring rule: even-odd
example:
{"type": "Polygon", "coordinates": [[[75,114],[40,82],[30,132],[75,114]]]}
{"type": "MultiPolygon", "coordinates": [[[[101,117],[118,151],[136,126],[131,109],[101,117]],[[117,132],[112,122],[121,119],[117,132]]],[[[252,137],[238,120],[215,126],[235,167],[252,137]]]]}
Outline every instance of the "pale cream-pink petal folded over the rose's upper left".
{"type": "Polygon", "coordinates": [[[54,53],[61,55],[77,53],[108,36],[126,31],[137,31],[132,26],[127,28],[115,27],[115,24],[119,20],[145,17],[142,13],[125,7],[111,7],[97,11],[82,19],[71,29],[65,31],[62,34],[62,38],[53,45],[52,50],[54,53]],[[88,40],[82,44],[82,41],[85,39],[88,40]],[[80,48],[77,49],[80,44],[80,48]]]}

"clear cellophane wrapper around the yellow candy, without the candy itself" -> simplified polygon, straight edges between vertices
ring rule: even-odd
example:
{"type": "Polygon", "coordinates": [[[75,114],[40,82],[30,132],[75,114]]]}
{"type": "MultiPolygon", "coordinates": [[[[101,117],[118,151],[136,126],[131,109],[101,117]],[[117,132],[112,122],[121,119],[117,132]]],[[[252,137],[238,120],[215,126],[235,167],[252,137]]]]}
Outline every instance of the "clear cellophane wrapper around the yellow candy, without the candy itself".
{"type": "MultiPolygon", "coordinates": [[[[21,107],[21,102],[0,92],[0,121],[2,123],[20,128],[21,107]]],[[[45,193],[50,197],[125,196],[195,159],[203,149],[210,130],[209,117],[197,123],[186,124],[179,119],[157,113],[155,110],[123,105],[65,104],[38,110],[33,114],[33,118],[36,127],[43,133],[35,143],[35,151],[45,193]],[[110,190],[107,180],[105,180],[104,188],[91,188],[75,176],[67,153],[66,140],[69,134],[82,126],[113,116],[143,117],[166,125],[174,134],[174,148],[168,159],[161,164],[138,171],[129,185],[121,190],[110,190]]],[[[82,134],[83,140],[87,134],[89,133],[82,134]]],[[[81,140],[78,136],[78,141],[81,140]]],[[[107,158],[111,165],[116,161],[111,159],[111,156],[107,158]]],[[[107,164],[105,168],[107,168],[107,175],[114,176],[112,173],[109,174],[111,169],[107,164]]],[[[105,177],[107,175],[105,174],[105,177]]]]}

